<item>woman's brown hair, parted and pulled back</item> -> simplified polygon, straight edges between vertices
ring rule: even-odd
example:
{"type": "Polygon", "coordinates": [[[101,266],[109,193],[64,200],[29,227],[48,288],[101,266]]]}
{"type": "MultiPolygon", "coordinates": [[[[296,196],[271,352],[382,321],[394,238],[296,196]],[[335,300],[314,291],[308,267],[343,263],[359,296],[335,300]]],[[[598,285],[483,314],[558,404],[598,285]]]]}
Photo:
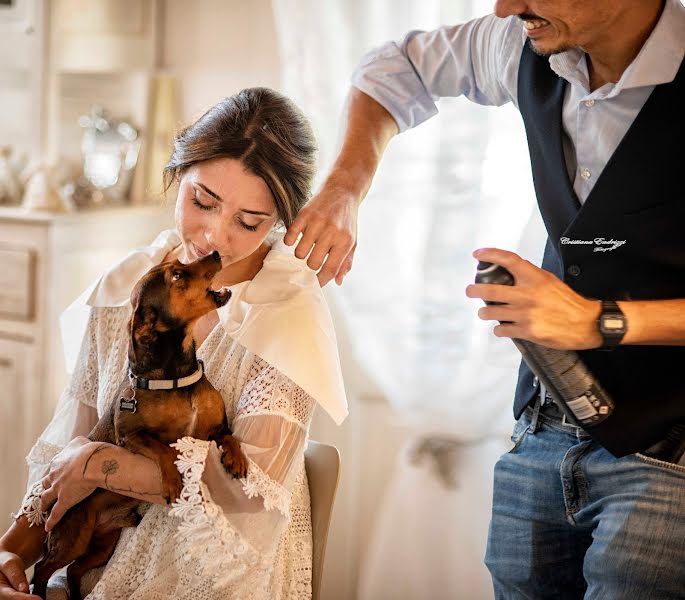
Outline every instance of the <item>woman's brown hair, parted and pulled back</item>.
{"type": "Polygon", "coordinates": [[[240,160],[261,177],[286,227],[309,199],[316,171],[311,125],[292,100],[272,89],[244,89],[182,130],[164,167],[165,189],[192,165],[214,158],[240,160]]]}

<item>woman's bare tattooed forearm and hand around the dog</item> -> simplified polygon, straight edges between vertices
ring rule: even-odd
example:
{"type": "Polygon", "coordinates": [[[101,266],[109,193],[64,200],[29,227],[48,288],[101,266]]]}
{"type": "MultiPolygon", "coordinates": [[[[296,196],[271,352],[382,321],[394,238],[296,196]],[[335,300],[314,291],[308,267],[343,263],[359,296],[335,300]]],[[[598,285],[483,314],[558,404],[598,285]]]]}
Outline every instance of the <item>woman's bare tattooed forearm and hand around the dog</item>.
{"type": "Polygon", "coordinates": [[[46,511],[54,503],[45,524],[47,531],[98,487],[145,502],[167,504],[162,474],[154,460],[83,437],[72,440],[53,459],[43,487],[41,510],[46,511]]]}

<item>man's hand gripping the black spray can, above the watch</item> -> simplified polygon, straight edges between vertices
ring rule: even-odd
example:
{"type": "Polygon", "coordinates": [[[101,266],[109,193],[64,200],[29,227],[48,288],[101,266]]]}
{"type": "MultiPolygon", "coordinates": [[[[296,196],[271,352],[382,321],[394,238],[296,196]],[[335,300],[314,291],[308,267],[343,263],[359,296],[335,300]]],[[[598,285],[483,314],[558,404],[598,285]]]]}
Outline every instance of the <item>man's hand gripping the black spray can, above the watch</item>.
{"type": "Polygon", "coordinates": [[[495,327],[496,336],[529,340],[561,350],[587,350],[602,345],[597,330],[599,301],[584,298],[558,277],[513,252],[483,248],[473,256],[503,266],[516,282],[514,286],[479,283],[466,288],[469,298],[504,303],[478,310],[478,316],[485,321],[509,321],[495,327]]]}

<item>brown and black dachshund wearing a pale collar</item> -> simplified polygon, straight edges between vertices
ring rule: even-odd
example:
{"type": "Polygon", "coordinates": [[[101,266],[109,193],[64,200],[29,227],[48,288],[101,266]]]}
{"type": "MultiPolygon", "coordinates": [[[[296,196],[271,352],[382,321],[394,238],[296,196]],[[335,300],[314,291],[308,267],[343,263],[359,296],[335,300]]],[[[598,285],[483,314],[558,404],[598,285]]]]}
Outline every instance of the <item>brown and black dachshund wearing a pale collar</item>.
{"type": "MultiPolygon", "coordinates": [[[[211,289],[221,269],[217,252],[192,264],[178,261],[153,267],[131,293],[128,361],[137,381],[173,380],[196,372],[193,325],[205,313],[223,306],[229,291],[211,289]]],[[[143,382],[142,385],[145,385],[143,382]]],[[[169,444],[183,436],[216,440],[224,467],[234,477],[245,477],[247,459],[231,434],[224,401],[205,375],[192,385],[170,390],[136,387],[122,382],[111,409],[88,437],[109,442],[156,461],[167,503],[178,498],[182,480],[169,444]]],[[[105,565],[114,552],[122,527],[138,524],[140,500],[98,489],[70,508],[48,534],[45,552],[36,564],[33,593],[45,598],[48,579],[65,565],[71,600],[80,600],[83,574],[105,565]]]]}

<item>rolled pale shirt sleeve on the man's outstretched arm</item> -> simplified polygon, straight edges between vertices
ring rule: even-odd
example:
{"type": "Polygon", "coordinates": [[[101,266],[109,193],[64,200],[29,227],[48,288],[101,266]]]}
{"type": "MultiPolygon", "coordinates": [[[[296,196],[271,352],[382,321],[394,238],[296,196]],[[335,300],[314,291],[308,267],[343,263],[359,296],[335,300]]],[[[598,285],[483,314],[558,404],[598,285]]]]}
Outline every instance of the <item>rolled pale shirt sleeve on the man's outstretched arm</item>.
{"type": "Polygon", "coordinates": [[[465,96],[483,105],[516,103],[525,34],[516,17],[488,15],[433,31],[411,31],[400,42],[368,52],[352,85],[395,119],[400,131],[436,115],[436,101],[465,96]]]}

